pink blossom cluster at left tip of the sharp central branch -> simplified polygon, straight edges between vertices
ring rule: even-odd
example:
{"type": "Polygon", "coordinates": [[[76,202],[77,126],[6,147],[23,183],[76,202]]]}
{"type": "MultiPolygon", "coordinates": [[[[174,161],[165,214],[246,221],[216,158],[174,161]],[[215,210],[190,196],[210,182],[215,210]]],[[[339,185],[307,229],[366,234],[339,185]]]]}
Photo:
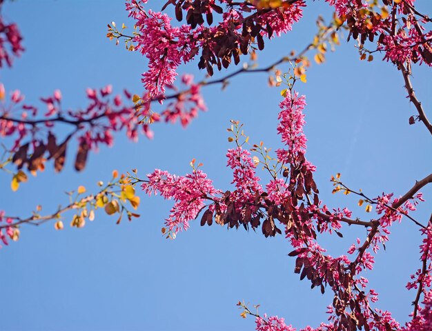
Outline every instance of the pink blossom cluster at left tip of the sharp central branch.
{"type": "Polygon", "coordinates": [[[142,189],[147,194],[159,193],[165,199],[175,201],[165,222],[168,230],[173,233],[188,230],[189,221],[197,217],[204,207],[204,201],[222,193],[213,187],[212,181],[201,170],[177,177],[157,169],[147,177],[148,182],[142,184],[142,189]]]}

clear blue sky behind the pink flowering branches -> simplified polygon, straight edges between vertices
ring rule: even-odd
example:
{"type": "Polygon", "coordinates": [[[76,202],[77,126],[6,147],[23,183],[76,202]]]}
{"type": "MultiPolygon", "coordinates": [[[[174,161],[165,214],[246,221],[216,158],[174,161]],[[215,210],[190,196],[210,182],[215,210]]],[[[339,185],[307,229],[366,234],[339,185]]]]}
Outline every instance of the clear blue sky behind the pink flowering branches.
{"type": "MultiPolygon", "coordinates": [[[[105,37],[110,21],[132,26],[123,2],[8,1],[2,14],[19,25],[26,52],[12,70],[1,71],[6,89],[20,89],[29,103],[37,103],[59,88],[68,108],[84,107],[85,89],[108,83],[115,91],[127,88],[141,94],[145,59],[105,37]]],[[[149,2],[157,8],[165,1],[149,2]]],[[[329,17],[324,1],[308,2],[294,31],[268,43],[259,54],[260,65],[302,49],[315,33],[317,14],[329,17]]],[[[431,14],[429,0],[417,2],[431,14]]],[[[181,72],[203,77],[196,64],[181,72]]],[[[278,88],[267,87],[266,79],[266,74],[238,77],[224,92],[204,88],[208,112],[199,114],[186,130],[159,125],[153,141],[141,136],[138,143],[117,134],[113,148],[90,155],[83,173],[72,170],[69,157],[61,174],[48,165],[18,192],[10,191],[10,177],[1,173],[0,210],[25,216],[41,204],[50,212],[67,202],[63,192],[78,185],[95,192],[97,181],[109,179],[114,169],[137,168],[143,177],[155,168],[185,174],[193,158],[204,163],[203,170],[217,187],[229,189],[225,128],[230,119],[245,123],[251,142],[279,146],[275,128],[281,97],[278,88]]],[[[431,79],[430,68],[414,68],[413,84],[430,118],[431,79]]],[[[382,192],[404,194],[430,172],[430,135],[420,124],[408,125],[415,108],[402,86],[400,72],[390,63],[379,57],[360,62],[353,41],[328,54],[324,65],[313,65],[308,82],[297,86],[308,103],[306,156],[317,165],[315,179],[329,206],[348,205],[355,216],[371,216],[356,207],[354,197],[331,194],[329,179],[336,172],[342,172],[352,188],[374,197],[382,192]]],[[[426,203],[415,218],[425,223],[431,188],[424,194],[426,203]]],[[[285,317],[299,328],[326,320],[331,293],[322,295],[299,280],[282,236],[265,239],[259,232],[201,228],[195,222],[175,241],[167,241],[160,229],[170,205],[141,194],[141,218],[132,223],[115,225],[115,218],[99,213],[83,229],[57,232],[52,223],[23,227],[19,242],[0,250],[0,330],[252,330],[253,319],[242,319],[235,306],[242,299],[259,303],[260,313],[285,317]]],[[[366,277],[380,293],[377,307],[406,321],[415,293],[404,285],[420,266],[420,237],[406,219],[392,230],[386,252],[377,256],[375,270],[366,277]]],[[[364,229],[344,233],[344,239],[322,239],[331,254],[345,254],[353,238],[364,236],[364,229]]]]}

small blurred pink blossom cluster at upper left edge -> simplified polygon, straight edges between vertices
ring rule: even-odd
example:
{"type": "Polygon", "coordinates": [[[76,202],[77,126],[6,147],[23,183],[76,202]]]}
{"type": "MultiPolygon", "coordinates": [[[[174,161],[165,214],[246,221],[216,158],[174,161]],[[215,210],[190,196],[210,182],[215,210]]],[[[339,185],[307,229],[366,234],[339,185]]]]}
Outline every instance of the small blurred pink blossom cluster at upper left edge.
{"type": "Polygon", "coordinates": [[[12,66],[12,56],[19,57],[24,50],[22,40],[17,24],[6,24],[0,16],[0,68],[5,62],[8,66],[12,66]]]}

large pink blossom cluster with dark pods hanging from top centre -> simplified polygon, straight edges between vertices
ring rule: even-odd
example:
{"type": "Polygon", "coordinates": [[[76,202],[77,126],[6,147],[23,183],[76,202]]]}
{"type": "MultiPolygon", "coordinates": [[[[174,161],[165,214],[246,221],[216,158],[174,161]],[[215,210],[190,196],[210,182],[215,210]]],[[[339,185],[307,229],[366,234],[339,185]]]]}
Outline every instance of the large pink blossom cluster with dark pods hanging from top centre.
{"type": "MultiPolygon", "coordinates": [[[[213,74],[213,66],[221,70],[228,68],[233,57],[239,63],[239,53],[248,53],[257,37],[258,48],[264,48],[262,37],[272,37],[291,30],[293,23],[302,17],[304,1],[296,1],[290,6],[275,10],[257,10],[251,3],[232,3],[223,0],[227,9],[216,5],[216,1],[179,1],[175,13],[179,21],[186,12],[188,24],[173,26],[170,17],[161,12],[145,10],[148,1],[129,0],[126,10],[136,20],[139,31],[133,41],[135,50],[139,50],[148,59],[148,71],[143,74],[143,83],[150,97],[163,94],[166,86],[172,85],[177,76],[180,63],[187,63],[202,50],[199,68],[206,68],[213,74]],[[183,6],[182,6],[183,5],[183,6]],[[255,14],[250,14],[256,10],[255,14]],[[213,12],[222,14],[222,21],[214,26],[213,12]],[[248,14],[248,16],[244,15],[248,14]],[[206,15],[209,27],[204,25],[206,15]]],[[[167,5],[169,2],[167,3],[167,5]]],[[[164,6],[166,7],[166,6],[164,6]]]]}

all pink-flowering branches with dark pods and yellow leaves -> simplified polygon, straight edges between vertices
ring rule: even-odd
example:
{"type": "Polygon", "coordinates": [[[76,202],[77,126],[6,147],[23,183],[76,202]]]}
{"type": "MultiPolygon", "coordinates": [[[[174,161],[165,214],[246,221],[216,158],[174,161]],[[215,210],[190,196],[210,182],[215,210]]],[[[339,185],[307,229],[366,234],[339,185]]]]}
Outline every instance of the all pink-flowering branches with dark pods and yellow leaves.
{"type": "MultiPolygon", "coordinates": [[[[88,106],[84,110],[65,110],[61,106],[61,92],[41,98],[45,112],[32,104],[24,103],[20,91],[6,98],[3,85],[0,98],[0,132],[3,137],[13,137],[14,145],[6,148],[0,168],[12,174],[11,188],[28,181],[26,172],[42,171],[46,162],[54,161],[57,172],[63,169],[68,143],[72,137],[79,141],[75,157],[75,169],[84,170],[90,151],[99,144],[112,144],[113,133],[125,130],[127,137],[136,140],[141,130],[153,138],[153,123],[166,121],[187,126],[206,106],[200,94],[204,86],[221,84],[239,74],[268,72],[272,86],[282,86],[283,97],[279,103],[277,133],[282,148],[271,152],[264,143],[248,148],[249,137],[239,121],[231,121],[228,141],[233,144],[226,154],[227,167],[233,171],[233,190],[221,190],[200,169],[202,164],[190,165],[192,171],[184,176],[156,169],[147,178],[138,177],[137,171],[119,175],[112,173],[107,184],[100,182],[96,194],[86,195],[80,185],[77,192],[69,192],[68,205],[59,207],[52,214],[41,215],[37,208],[30,217],[10,217],[0,212],[0,239],[19,239],[20,228],[26,224],[39,225],[53,221],[57,230],[63,229],[63,214],[73,210],[71,226],[82,228],[86,219],[95,219],[95,210],[104,208],[108,215],[116,214],[117,223],[122,215],[128,219],[139,217],[130,208],[140,203],[135,188],[141,187],[147,194],[160,194],[173,199],[174,205],[166,219],[162,234],[175,239],[188,230],[189,222],[200,218],[201,225],[214,223],[227,228],[259,230],[265,237],[284,234],[293,250],[288,254],[295,258],[294,272],[300,279],[308,279],[311,288],[333,292],[333,302],[328,306],[328,321],[317,328],[308,326],[302,330],[431,330],[432,328],[432,217],[418,221],[411,216],[418,203],[424,201],[419,192],[432,182],[432,174],[416,181],[401,197],[382,193],[370,197],[362,190],[350,188],[340,174],[331,177],[333,193],[353,194],[358,205],[376,217],[362,220],[353,217],[348,208],[330,209],[320,199],[320,191],[314,180],[315,165],[306,159],[306,135],[304,134],[304,108],[306,97],[294,88],[306,83],[306,70],[311,66],[309,53],[317,64],[324,63],[326,52],[340,43],[340,32],[348,32],[348,40],[358,44],[360,60],[374,60],[374,53],[400,70],[406,92],[418,114],[409,123],[422,123],[432,134],[432,125],[426,117],[411,84],[411,66],[432,66],[432,19],[418,12],[414,0],[327,0],[334,8],[333,20],[326,25],[317,19],[317,34],[300,52],[281,57],[271,66],[256,68],[247,63],[242,68],[221,79],[213,79],[214,70],[222,70],[239,64],[241,57],[255,61],[257,52],[264,50],[268,39],[279,37],[293,28],[302,18],[306,6],[301,0],[169,0],[161,12],[146,10],[146,0],[130,0],[126,3],[129,16],[135,20],[132,33],[122,24],[119,30],[108,24],[109,39],[120,40],[128,51],[140,52],[148,59],[148,70],[142,74],[145,92],[137,95],[124,91],[112,97],[112,88],[88,89],[88,106]],[[164,10],[173,7],[175,18],[181,25],[172,23],[164,10]],[[185,23],[186,22],[186,23],[185,23]],[[175,87],[177,68],[181,63],[197,60],[197,66],[205,69],[208,77],[195,83],[191,75],[181,77],[182,89],[175,87]],[[277,66],[288,66],[286,72],[277,66]],[[171,94],[167,90],[172,91],[171,94]],[[126,101],[124,101],[126,99],[126,101]],[[159,103],[159,106],[154,106],[159,103]],[[63,137],[56,137],[57,123],[64,123],[72,130],[63,137]],[[48,130],[47,130],[48,128],[48,130]],[[271,179],[263,184],[257,175],[262,167],[271,179]],[[12,170],[10,170],[12,169],[12,170]],[[411,321],[401,325],[386,310],[375,308],[377,292],[368,287],[365,270],[372,270],[374,255],[389,241],[390,226],[402,218],[410,219],[420,228],[420,261],[422,265],[411,275],[406,285],[416,292],[411,321]],[[331,257],[318,239],[320,234],[336,234],[343,237],[342,225],[366,228],[363,239],[358,238],[348,250],[348,255],[331,257]]],[[[1,2],[0,2],[1,3],[1,2]]],[[[313,3],[307,3],[313,6],[313,3]]],[[[0,20],[0,66],[12,66],[12,57],[23,51],[22,37],[14,23],[6,25],[0,20]]],[[[284,319],[260,316],[252,312],[244,302],[237,303],[241,316],[255,317],[256,330],[295,330],[284,319]]],[[[257,306],[255,306],[257,308],[257,306]]]]}

